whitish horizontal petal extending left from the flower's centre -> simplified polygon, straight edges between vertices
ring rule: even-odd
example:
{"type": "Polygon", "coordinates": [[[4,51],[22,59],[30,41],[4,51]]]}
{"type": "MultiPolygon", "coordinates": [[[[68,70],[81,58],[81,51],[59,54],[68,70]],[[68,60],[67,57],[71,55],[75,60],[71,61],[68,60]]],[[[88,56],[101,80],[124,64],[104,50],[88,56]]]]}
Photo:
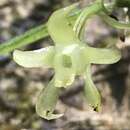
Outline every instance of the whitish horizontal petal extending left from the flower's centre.
{"type": "Polygon", "coordinates": [[[13,53],[14,61],[23,67],[53,67],[55,50],[53,46],[35,51],[19,51],[13,53]]]}

